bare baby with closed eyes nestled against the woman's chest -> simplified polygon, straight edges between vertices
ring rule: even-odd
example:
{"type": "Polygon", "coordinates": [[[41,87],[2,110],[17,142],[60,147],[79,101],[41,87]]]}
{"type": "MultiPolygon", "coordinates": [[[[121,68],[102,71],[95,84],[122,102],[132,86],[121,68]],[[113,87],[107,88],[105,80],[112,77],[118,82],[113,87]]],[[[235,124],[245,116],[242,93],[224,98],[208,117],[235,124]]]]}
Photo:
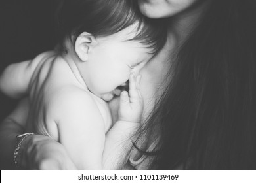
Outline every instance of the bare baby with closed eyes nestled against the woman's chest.
{"type": "Polygon", "coordinates": [[[29,95],[26,131],[63,144],[78,169],[117,169],[122,141],[140,125],[139,71],[165,43],[165,29],[131,0],[62,1],[57,15],[58,51],[9,65],[0,89],[29,95]],[[129,93],[121,92],[128,80],[129,93]],[[116,123],[106,103],[114,95],[116,123]]]}

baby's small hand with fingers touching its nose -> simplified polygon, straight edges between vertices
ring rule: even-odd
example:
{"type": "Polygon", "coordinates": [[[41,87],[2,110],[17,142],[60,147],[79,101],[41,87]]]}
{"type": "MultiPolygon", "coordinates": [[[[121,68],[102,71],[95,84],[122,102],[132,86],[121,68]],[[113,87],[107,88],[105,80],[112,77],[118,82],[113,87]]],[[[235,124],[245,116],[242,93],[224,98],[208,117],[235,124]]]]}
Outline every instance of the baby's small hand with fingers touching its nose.
{"type": "Polygon", "coordinates": [[[129,95],[123,91],[120,95],[119,120],[128,122],[140,122],[143,110],[143,100],[140,94],[140,78],[131,73],[129,76],[129,95]]]}

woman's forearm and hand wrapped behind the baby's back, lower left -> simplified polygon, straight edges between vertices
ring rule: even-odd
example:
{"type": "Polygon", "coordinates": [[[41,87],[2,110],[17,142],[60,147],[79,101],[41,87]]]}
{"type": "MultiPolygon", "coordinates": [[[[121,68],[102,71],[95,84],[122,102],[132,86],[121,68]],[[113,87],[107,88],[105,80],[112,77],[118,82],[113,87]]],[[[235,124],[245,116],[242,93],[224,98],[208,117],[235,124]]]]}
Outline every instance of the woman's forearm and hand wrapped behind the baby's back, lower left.
{"type": "MultiPolygon", "coordinates": [[[[28,110],[28,99],[23,99],[0,124],[1,169],[16,168],[13,160],[16,136],[26,132],[28,110]]],[[[22,169],[76,169],[64,146],[45,135],[31,135],[22,141],[18,166],[22,169]]]]}

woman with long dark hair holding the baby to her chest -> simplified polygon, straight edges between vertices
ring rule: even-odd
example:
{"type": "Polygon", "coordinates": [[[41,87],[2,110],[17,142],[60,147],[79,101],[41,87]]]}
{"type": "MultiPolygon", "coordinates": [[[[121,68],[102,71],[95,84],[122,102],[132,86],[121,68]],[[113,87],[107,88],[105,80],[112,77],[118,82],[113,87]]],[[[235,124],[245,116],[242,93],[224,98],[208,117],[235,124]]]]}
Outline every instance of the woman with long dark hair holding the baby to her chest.
{"type": "MultiPolygon", "coordinates": [[[[150,18],[168,18],[169,33],[163,51],[142,70],[148,106],[123,168],[255,169],[255,1],[139,0],[139,7],[150,18]]],[[[22,133],[14,124],[18,114],[11,117],[1,126],[0,145],[10,147],[1,157],[12,156],[14,131],[22,133]],[[11,125],[16,130],[7,133],[11,125]]],[[[29,167],[74,168],[47,137],[27,137],[22,148],[29,167]]]]}

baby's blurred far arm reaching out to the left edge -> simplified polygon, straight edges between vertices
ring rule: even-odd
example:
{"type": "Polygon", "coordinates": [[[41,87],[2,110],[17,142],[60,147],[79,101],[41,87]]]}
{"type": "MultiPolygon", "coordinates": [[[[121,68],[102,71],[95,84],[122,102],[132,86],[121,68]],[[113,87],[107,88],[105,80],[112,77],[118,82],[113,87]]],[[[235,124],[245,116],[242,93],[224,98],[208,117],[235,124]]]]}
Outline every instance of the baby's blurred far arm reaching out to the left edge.
{"type": "Polygon", "coordinates": [[[9,65],[0,76],[0,91],[13,99],[26,95],[33,72],[44,55],[9,65]]]}

